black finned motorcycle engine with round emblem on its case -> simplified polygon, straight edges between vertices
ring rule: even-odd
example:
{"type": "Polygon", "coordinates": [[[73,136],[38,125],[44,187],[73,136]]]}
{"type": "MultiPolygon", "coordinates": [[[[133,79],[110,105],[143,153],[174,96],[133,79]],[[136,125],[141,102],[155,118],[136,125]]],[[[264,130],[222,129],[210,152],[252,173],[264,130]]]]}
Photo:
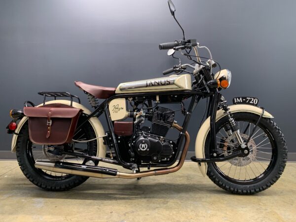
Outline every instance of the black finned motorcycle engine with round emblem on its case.
{"type": "Polygon", "coordinates": [[[156,107],[149,115],[151,129],[142,127],[133,142],[134,151],[141,156],[143,162],[160,162],[173,156],[177,146],[173,141],[165,139],[165,136],[174,119],[175,112],[162,107],[156,107]]]}

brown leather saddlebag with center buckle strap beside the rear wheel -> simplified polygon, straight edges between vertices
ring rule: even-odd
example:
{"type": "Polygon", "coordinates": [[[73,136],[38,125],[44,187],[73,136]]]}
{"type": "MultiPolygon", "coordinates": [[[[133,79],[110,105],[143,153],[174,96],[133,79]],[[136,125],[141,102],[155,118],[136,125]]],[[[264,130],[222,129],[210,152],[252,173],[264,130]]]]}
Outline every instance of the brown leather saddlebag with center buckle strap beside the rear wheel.
{"type": "Polygon", "coordinates": [[[29,136],[35,144],[71,142],[81,110],[63,104],[24,107],[29,117],[29,136]]]}

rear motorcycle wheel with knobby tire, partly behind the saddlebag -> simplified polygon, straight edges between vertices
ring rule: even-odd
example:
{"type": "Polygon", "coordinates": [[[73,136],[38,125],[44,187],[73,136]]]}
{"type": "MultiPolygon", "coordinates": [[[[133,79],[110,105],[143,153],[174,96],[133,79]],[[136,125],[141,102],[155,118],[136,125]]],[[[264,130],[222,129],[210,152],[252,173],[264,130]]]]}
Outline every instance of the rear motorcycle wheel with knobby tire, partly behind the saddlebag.
{"type": "MultiPolygon", "coordinates": [[[[78,124],[82,123],[84,117],[81,115],[78,120],[78,124]]],[[[85,163],[87,160],[79,157],[73,157],[69,155],[59,155],[58,153],[52,153],[50,149],[60,149],[64,146],[50,146],[50,145],[37,145],[33,144],[29,139],[28,122],[26,122],[17,139],[16,156],[19,166],[24,175],[34,184],[43,189],[51,191],[63,191],[74,188],[85,182],[88,177],[55,173],[51,171],[37,169],[35,162],[37,160],[51,160],[51,161],[65,161],[65,162],[78,162],[85,163]]],[[[95,132],[89,122],[83,124],[80,130],[78,130],[73,139],[74,140],[90,140],[95,138],[95,132]]],[[[67,146],[67,145],[66,145],[67,146]]],[[[74,151],[79,151],[88,155],[96,155],[97,142],[96,140],[73,144],[74,151]]]]}

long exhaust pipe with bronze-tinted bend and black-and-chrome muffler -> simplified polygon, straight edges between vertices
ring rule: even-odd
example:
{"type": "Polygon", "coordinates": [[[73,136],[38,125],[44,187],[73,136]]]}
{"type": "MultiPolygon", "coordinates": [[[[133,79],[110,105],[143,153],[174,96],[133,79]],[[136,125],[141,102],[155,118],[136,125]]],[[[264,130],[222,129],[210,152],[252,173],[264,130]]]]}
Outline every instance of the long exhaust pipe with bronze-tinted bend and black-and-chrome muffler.
{"type": "MultiPolygon", "coordinates": [[[[176,123],[173,123],[173,127],[177,130],[182,131],[182,127],[176,123]]],[[[51,161],[37,161],[35,167],[42,170],[53,171],[57,173],[64,174],[74,174],[86,177],[96,177],[96,178],[124,178],[124,179],[134,179],[140,177],[157,176],[163,174],[174,173],[181,169],[184,164],[186,153],[188,151],[190,142],[190,137],[188,132],[185,132],[185,145],[180,157],[178,164],[171,168],[161,168],[155,170],[148,170],[140,173],[123,173],[118,172],[116,169],[99,167],[99,166],[89,166],[82,164],[75,164],[69,162],[51,162],[51,161]]]]}

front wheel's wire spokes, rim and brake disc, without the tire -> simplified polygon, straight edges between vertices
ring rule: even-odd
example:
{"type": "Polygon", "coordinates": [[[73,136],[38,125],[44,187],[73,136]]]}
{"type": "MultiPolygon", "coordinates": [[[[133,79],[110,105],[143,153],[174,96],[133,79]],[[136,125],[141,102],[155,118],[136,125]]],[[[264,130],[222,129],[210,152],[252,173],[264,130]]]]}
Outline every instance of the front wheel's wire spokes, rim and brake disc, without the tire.
{"type": "MultiPolygon", "coordinates": [[[[240,135],[246,142],[255,128],[256,122],[243,119],[238,119],[236,122],[241,132],[240,135]]],[[[220,127],[218,135],[216,135],[216,141],[218,141],[217,150],[220,157],[232,154],[235,148],[239,146],[235,135],[228,135],[224,130],[225,125],[220,127]]],[[[250,149],[248,156],[235,157],[225,162],[215,162],[215,167],[225,177],[236,182],[247,183],[259,179],[268,172],[273,160],[276,159],[277,152],[271,138],[272,135],[266,129],[257,127],[248,143],[250,149]]]]}

